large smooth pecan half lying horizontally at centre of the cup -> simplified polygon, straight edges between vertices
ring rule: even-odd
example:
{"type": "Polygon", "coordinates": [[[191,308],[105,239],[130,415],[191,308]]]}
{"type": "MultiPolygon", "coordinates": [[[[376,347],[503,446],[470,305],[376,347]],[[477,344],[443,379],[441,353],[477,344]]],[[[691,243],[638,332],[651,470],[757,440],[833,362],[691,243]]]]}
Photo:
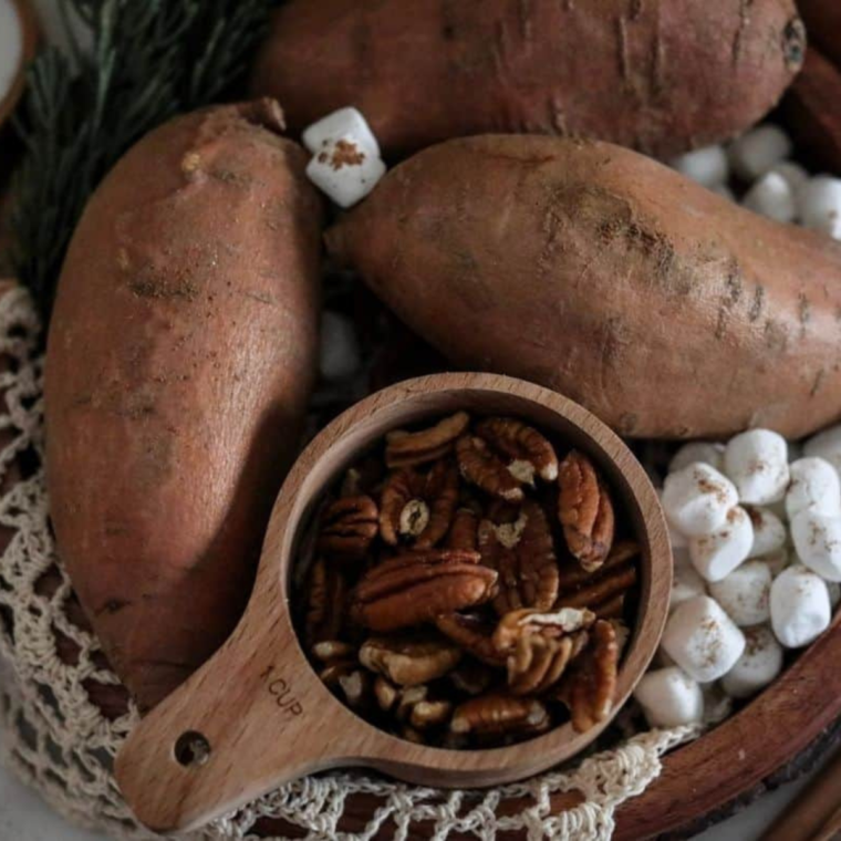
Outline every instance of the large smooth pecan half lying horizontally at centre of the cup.
{"type": "Polygon", "coordinates": [[[490,599],[497,574],[476,552],[427,550],[370,570],[353,592],[352,617],[373,631],[397,631],[490,599]]]}

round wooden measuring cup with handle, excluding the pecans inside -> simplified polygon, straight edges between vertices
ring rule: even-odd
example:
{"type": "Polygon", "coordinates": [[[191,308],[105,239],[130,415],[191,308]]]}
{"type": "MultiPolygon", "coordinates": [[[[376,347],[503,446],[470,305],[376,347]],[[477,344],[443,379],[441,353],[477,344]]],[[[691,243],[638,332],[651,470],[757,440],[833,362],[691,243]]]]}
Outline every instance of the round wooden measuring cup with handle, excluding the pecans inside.
{"type": "Polygon", "coordinates": [[[631,518],[642,546],[641,594],[614,713],[624,704],[657,647],[672,585],[666,526],[643,468],[604,424],[546,388],[488,374],[422,377],[343,414],[298,460],[274,506],[242,622],[136,727],[117,758],[117,781],[141,821],[159,831],[195,828],[288,780],[338,766],[420,785],[498,785],[572,757],[608,725],[577,734],[568,724],[491,750],[414,745],[357,718],[320,682],[298,643],[289,573],[326,489],[386,432],[458,409],[526,418],[586,451],[631,518]]]}

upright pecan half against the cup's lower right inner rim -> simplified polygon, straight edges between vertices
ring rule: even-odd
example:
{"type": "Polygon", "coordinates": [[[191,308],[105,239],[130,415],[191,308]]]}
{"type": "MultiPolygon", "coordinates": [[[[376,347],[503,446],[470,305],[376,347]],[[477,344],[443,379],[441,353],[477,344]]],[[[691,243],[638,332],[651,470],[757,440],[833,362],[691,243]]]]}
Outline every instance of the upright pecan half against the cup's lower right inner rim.
{"type": "Polygon", "coordinates": [[[591,632],[592,644],[575,660],[558,693],[572,716],[578,733],[604,721],[613,708],[619,673],[619,644],[610,622],[599,620],[591,632]]]}

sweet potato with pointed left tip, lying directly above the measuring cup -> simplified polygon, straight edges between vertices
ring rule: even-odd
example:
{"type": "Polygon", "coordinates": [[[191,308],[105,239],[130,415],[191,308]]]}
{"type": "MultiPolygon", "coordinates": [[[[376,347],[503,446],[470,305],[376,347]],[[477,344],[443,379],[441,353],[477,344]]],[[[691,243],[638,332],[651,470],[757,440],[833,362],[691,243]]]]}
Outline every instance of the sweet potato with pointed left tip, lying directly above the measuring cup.
{"type": "Polygon", "coordinates": [[[619,432],[804,435],[841,414],[841,245],[611,144],[450,141],[393,169],[329,250],[456,363],[619,432]]]}

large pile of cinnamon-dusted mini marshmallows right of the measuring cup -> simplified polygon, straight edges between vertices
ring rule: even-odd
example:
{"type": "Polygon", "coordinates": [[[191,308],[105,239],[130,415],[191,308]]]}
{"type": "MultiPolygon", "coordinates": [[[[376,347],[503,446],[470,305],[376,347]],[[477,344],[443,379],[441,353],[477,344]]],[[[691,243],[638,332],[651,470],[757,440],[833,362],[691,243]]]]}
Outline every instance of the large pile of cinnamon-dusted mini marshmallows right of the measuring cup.
{"type": "Polygon", "coordinates": [[[790,449],[751,429],[726,446],[687,444],[669,465],[664,667],[634,693],[653,727],[705,720],[717,681],[730,698],[754,695],[779,675],[785,648],[830,624],[841,598],[841,426],[807,442],[802,457],[790,449]]]}

